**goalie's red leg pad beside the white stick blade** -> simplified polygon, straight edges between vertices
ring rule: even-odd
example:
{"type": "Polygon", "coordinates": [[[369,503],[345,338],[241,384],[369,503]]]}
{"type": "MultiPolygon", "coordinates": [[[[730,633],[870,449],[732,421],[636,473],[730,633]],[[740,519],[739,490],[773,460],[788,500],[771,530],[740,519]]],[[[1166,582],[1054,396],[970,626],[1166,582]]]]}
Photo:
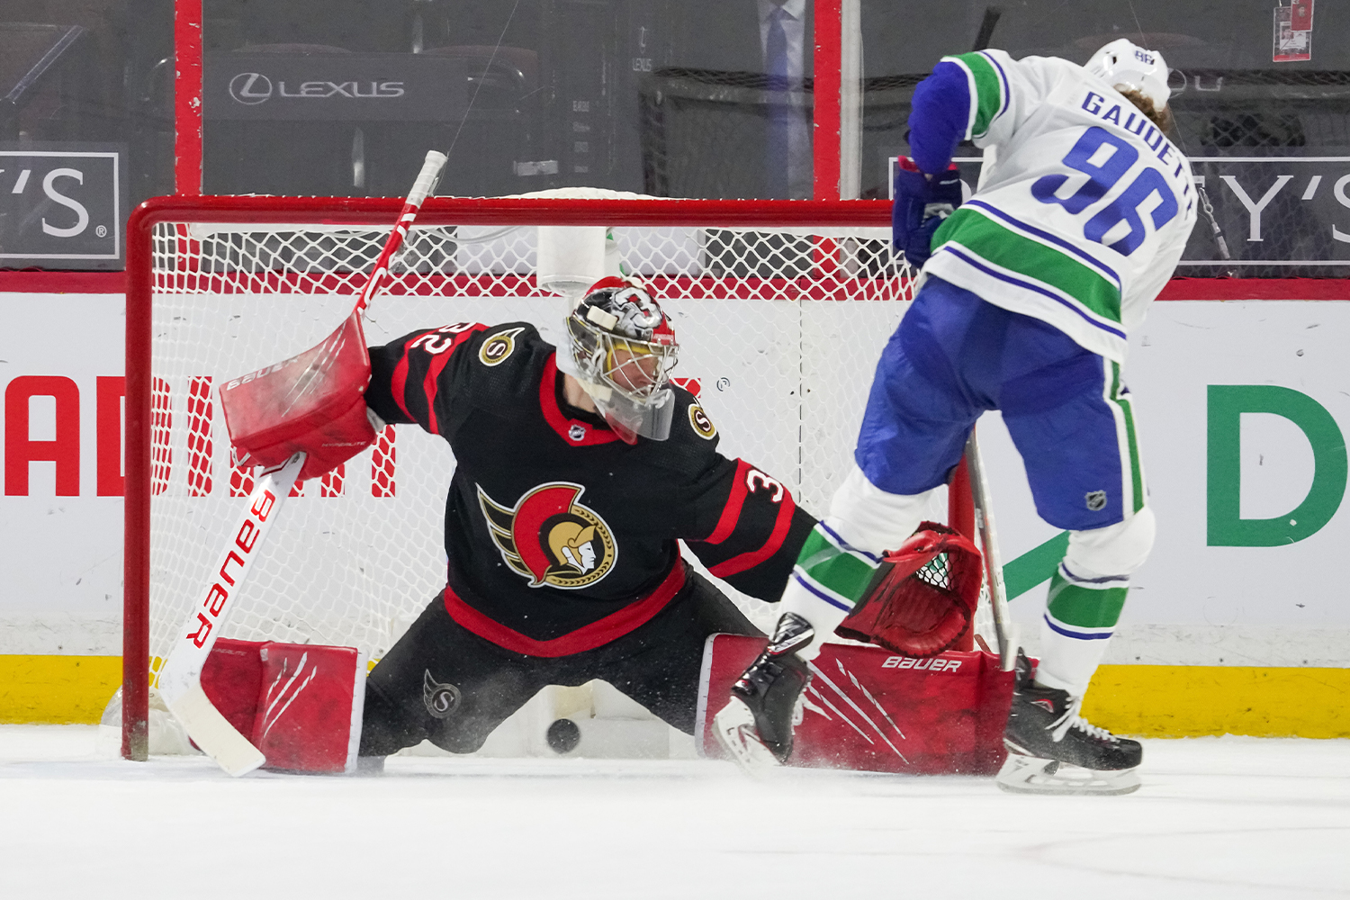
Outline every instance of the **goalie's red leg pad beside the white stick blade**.
{"type": "Polygon", "coordinates": [[[356,770],[366,656],[350,646],[220,638],[201,687],[266,769],[356,770]]]}

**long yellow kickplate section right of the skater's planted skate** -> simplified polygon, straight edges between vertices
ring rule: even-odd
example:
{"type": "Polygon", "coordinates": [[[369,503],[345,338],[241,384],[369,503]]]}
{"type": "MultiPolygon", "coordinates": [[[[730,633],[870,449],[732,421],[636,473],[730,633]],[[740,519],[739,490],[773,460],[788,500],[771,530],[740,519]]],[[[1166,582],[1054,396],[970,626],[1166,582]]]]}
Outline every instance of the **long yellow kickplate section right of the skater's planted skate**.
{"type": "Polygon", "coordinates": [[[1350,669],[1103,665],[1083,715],[1116,734],[1350,737],[1350,669]]]}

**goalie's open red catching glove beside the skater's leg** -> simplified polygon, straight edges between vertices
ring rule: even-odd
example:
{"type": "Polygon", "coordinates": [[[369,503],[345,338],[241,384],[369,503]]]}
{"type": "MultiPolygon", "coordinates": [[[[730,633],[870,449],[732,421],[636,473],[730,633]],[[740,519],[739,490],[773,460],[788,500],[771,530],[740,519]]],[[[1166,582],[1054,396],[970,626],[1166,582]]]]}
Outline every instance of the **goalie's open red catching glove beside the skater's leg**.
{"type": "Polygon", "coordinates": [[[975,544],[945,525],[923,522],[900,549],[882,557],[836,634],[905,656],[937,656],[971,627],[981,576],[975,544]]]}

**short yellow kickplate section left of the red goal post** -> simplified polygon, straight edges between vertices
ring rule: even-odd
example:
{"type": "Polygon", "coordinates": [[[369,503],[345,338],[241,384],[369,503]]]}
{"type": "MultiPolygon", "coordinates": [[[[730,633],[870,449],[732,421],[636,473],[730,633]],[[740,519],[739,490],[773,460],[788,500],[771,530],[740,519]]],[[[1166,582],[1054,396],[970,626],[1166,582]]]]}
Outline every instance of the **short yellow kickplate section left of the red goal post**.
{"type": "Polygon", "coordinates": [[[120,656],[0,656],[0,723],[97,725],[119,687],[120,656]]]}

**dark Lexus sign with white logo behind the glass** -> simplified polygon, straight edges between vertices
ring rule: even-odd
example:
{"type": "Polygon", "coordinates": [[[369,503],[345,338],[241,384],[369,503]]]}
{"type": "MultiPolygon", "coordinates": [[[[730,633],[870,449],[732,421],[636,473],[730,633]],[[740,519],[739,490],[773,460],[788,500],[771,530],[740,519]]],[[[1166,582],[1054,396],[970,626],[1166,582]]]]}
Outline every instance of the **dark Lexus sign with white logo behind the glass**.
{"type": "Polygon", "coordinates": [[[401,53],[205,58],[207,119],[455,121],[467,107],[464,59],[401,53]]]}

